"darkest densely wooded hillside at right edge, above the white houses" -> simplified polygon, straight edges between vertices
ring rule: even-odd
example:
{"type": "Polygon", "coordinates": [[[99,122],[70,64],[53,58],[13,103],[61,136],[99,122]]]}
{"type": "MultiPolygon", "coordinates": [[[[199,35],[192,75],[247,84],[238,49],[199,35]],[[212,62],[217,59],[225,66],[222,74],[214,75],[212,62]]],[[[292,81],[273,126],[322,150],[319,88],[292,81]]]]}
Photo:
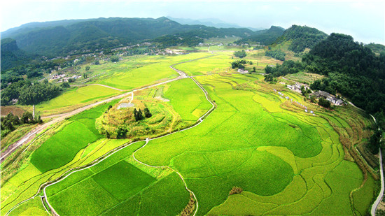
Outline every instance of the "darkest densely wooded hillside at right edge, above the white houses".
{"type": "Polygon", "coordinates": [[[351,36],[330,34],[304,55],[302,62],[308,71],[328,76],[316,80],[311,89],[339,92],[369,113],[384,113],[385,55],[376,57],[351,36]]]}

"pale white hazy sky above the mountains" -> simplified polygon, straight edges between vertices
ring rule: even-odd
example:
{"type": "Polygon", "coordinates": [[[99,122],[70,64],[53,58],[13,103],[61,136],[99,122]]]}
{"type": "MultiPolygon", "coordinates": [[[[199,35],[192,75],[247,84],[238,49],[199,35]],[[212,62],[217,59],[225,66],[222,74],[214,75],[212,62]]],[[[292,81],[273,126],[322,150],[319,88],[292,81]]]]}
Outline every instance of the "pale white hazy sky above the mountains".
{"type": "Polygon", "coordinates": [[[27,22],[97,17],[216,18],[245,27],[292,24],[385,44],[385,1],[1,1],[1,31],[27,22]]]}

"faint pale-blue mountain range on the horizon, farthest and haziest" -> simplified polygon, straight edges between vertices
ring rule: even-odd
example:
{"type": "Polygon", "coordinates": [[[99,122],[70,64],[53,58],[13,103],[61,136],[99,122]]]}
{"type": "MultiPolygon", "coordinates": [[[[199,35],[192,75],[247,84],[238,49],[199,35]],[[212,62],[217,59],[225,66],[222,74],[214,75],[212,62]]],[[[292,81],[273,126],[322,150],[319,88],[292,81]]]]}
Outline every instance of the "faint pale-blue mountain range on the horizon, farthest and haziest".
{"type": "Polygon", "coordinates": [[[167,18],[169,20],[174,20],[175,22],[179,22],[180,24],[200,24],[200,25],[205,25],[207,27],[216,27],[216,28],[247,28],[247,29],[250,29],[251,31],[259,31],[264,29],[264,28],[241,27],[238,24],[227,23],[218,19],[193,20],[193,19],[175,18],[175,17],[169,17],[169,16],[167,16],[167,18]]]}

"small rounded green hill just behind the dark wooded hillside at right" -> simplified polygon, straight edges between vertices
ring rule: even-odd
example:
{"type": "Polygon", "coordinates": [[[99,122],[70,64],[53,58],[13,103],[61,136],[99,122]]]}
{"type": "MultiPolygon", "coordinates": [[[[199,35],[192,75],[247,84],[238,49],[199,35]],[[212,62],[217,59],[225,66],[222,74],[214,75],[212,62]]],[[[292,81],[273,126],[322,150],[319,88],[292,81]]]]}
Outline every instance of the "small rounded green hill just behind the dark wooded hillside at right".
{"type": "Polygon", "coordinates": [[[327,38],[328,35],[316,28],[301,27],[293,25],[286,29],[283,34],[276,39],[275,43],[285,43],[291,41],[288,50],[293,52],[303,52],[305,48],[313,48],[318,42],[327,38]]]}

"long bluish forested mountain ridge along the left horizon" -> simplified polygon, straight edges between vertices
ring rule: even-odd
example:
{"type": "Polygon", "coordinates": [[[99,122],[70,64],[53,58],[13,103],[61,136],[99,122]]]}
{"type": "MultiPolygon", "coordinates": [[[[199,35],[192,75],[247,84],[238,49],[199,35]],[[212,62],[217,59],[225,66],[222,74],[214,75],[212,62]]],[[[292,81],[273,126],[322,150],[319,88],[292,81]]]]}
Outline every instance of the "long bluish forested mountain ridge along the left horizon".
{"type": "Polygon", "coordinates": [[[82,22],[55,22],[48,27],[22,28],[5,32],[18,47],[29,53],[55,57],[71,53],[90,52],[130,45],[165,35],[193,31],[195,36],[248,36],[250,29],[216,29],[202,25],[183,25],[160,17],[152,18],[99,18],[82,22]]]}

